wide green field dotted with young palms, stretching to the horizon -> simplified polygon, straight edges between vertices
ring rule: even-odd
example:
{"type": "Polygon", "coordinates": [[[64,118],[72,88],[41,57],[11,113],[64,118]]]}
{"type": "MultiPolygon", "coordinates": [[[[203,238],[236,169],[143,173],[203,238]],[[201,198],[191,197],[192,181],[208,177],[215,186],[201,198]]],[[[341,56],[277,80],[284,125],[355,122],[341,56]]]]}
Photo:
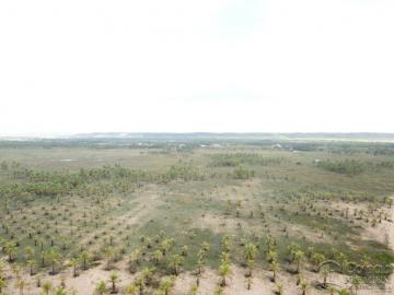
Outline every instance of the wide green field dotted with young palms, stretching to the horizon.
{"type": "Polygon", "coordinates": [[[0,294],[392,294],[393,150],[1,143],[0,294]]]}

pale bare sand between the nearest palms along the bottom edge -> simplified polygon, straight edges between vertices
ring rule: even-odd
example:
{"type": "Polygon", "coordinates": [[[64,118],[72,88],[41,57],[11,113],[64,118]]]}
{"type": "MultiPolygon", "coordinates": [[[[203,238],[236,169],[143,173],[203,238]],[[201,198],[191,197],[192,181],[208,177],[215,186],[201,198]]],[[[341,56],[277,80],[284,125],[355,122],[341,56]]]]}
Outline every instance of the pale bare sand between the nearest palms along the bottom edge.
{"type": "MultiPolygon", "coordinates": [[[[105,264],[105,263],[103,263],[105,264]]],[[[299,285],[297,285],[297,276],[290,275],[286,270],[286,266],[283,266],[280,270],[278,270],[277,282],[280,282],[283,285],[285,294],[289,295],[301,295],[302,291],[299,285]]],[[[118,274],[118,281],[116,283],[119,293],[125,294],[124,288],[127,284],[131,283],[135,279],[135,275],[131,275],[127,271],[126,262],[121,261],[116,263],[116,269],[114,270],[118,274]]],[[[43,282],[50,281],[54,286],[60,285],[61,276],[66,278],[66,286],[69,291],[69,294],[80,294],[80,295],[93,295],[94,290],[100,281],[105,281],[107,287],[109,288],[109,275],[113,271],[104,270],[103,266],[90,269],[88,271],[82,272],[78,278],[72,278],[71,270],[63,272],[61,275],[46,275],[42,279],[43,282]]],[[[303,271],[303,279],[305,279],[309,283],[308,295],[323,295],[328,294],[327,291],[317,291],[314,288],[313,284],[316,281],[322,282],[321,274],[303,271]]],[[[24,280],[27,282],[24,295],[37,295],[39,293],[39,288],[35,286],[34,278],[28,275],[23,275],[24,280]]],[[[239,295],[239,294],[247,294],[247,295],[270,295],[276,291],[276,284],[271,282],[271,272],[269,271],[255,271],[254,278],[252,281],[251,290],[246,288],[246,279],[245,279],[245,269],[237,268],[232,266],[232,274],[228,278],[228,285],[224,287],[225,295],[239,295]]],[[[218,275],[216,270],[206,269],[200,279],[200,286],[198,290],[198,295],[213,295],[218,284],[221,279],[218,275]]],[[[335,283],[338,286],[349,286],[347,283],[347,278],[339,274],[331,274],[327,280],[329,283],[335,283]]],[[[190,287],[196,282],[196,276],[190,273],[182,273],[175,281],[175,285],[173,291],[170,293],[171,295],[186,295],[190,291],[190,287]]],[[[9,287],[7,294],[16,295],[19,291],[15,287],[15,280],[10,280],[9,287]]],[[[109,294],[109,292],[107,293],[109,294]]],[[[153,292],[146,293],[147,295],[154,294],[153,292]]],[[[359,295],[369,295],[369,294],[379,294],[379,295],[389,295],[389,290],[386,292],[378,291],[378,290],[361,290],[358,293],[359,295]]]]}

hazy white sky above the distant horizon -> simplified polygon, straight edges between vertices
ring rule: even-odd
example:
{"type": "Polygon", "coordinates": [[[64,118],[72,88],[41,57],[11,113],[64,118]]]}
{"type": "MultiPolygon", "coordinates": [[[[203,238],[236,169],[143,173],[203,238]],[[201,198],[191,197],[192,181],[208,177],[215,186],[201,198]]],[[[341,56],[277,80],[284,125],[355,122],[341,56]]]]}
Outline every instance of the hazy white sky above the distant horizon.
{"type": "Polygon", "coordinates": [[[0,1],[0,134],[394,132],[393,0],[0,1]]]}

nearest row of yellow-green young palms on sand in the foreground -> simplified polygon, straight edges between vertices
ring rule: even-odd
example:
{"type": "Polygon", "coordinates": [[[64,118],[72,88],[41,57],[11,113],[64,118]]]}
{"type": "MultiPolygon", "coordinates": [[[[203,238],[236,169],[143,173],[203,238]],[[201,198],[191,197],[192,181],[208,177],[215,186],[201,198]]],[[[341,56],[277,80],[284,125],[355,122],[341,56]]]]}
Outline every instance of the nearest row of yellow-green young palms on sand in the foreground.
{"type": "MultiPolygon", "coordinates": [[[[237,205],[241,206],[240,204],[237,205]]],[[[109,244],[112,244],[109,241],[109,244]]],[[[142,264],[142,261],[151,261],[155,266],[155,268],[164,267],[170,273],[173,275],[178,275],[182,269],[182,264],[184,258],[187,256],[187,246],[182,247],[181,253],[172,253],[172,249],[174,248],[175,240],[172,238],[164,238],[164,235],[161,234],[159,237],[154,239],[149,237],[141,237],[141,248],[134,250],[129,256],[129,271],[137,272],[138,267],[142,264]],[[158,244],[158,247],[153,247],[152,244],[158,244]],[[150,251],[152,249],[152,251],[150,251]],[[154,250],[153,250],[154,249],[154,250]]],[[[277,282],[277,271],[279,269],[279,260],[278,253],[276,251],[277,241],[274,236],[267,237],[267,250],[266,257],[267,261],[269,262],[269,269],[273,271],[273,282],[277,283],[278,293],[282,293],[282,286],[280,282],[277,282]]],[[[10,240],[2,240],[1,249],[4,255],[8,256],[9,262],[15,261],[16,249],[18,245],[10,240]]],[[[200,274],[204,271],[205,266],[205,258],[206,253],[209,249],[209,246],[206,244],[201,249],[198,251],[198,261],[197,261],[197,279],[196,279],[196,286],[199,285],[200,274]]],[[[255,259],[256,259],[256,246],[253,244],[245,245],[245,264],[247,267],[246,273],[246,281],[247,281],[247,288],[252,287],[252,278],[253,271],[255,267],[255,259]]],[[[341,252],[335,251],[333,252],[332,259],[326,259],[323,253],[314,252],[312,248],[306,249],[305,251],[299,245],[291,244],[288,247],[289,249],[289,262],[294,264],[293,273],[299,274],[301,272],[300,268],[302,262],[306,259],[312,264],[313,270],[315,272],[322,271],[323,274],[323,287],[327,287],[327,275],[328,270],[327,266],[334,266],[335,268],[339,268],[340,272],[346,272],[346,268],[355,264],[354,262],[349,262],[346,256],[341,252]]],[[[114,249],[107,248],[105,250],[105,258],[106,258],[106,269],[112,269],[112,262],[116,255],[114,253],[114,249]]],[[[35,268],[37,267],[50,267],[50,274],[56,274],[61,270],[62,258],[60,257],[60,250],[57,246],[51,245],[49,250],[44,251],[40,244],[36,245],[36,247],[27,246],[24,249],[24,263],[28,273],[31,275],[35,274],[35,268]],[[36,250],[38,253],[36,253],[36,250]],[[38,259],[36,257],[38,256],[38,259]]],[[[218,270],[219,275],[221,276],[221,282],[218,285],[218,292],[227,286],[227,276],[231,274],[231,263],[230,263],[230,243],[229,237],[225,236],[222,240],[222,252],[221,252],[221,263],[218,270]]],[[[91,261],[91,256],[88,251],[82,251],[80,257],[74,257],[69,261],[69,266],[72,267],[73,275],[78,275],[79,270],[86,270],[89,268],[89,262],[91,261]]],[[[366,259],[362,263],[359,264],[359,270],[368,269],[368,260],[366,259]]],[[[18,268],[15,268],[15,271],[18,268]]],[[[152,273],[154,269],[144,269],[144,275],[139,279],[140,283],[136,283],[139,286],[140,293],[143,292],[143,288],[149,285],[151,275],[149,275],[149,271],[152,273]],[[149,279],[149,280],[148,280],[149,279]],[[143,284],[141,284],[143,282],[143,284]]],[[[360,279],[360,278],[358,278],[360,279]]],[[[115,281],[113,280],[113,292],[116,291],[115,281]]],[[[20,286],[23,287],[23,281],[21,281],[20,286]]],[[[303,294],[305,293],[308,284],[304,280],[298,280],[300,283],[303,294]]],[[[355,285],[357,285],[357,280],[354,280],[355,285]]],[[[3,283],[4,284],[4,283],[3,283]]],[[[39,283],[37,283],[39,285],[39,283]]],[[[167,284],[165,284],[167,285],[167,284]]],[[[196,286],[193,288],[195,290],[196,286]]],[[[164,287],[163,287],[164,288],[164,287]]],[[[167,290],[167,288],[165,288],[167,290]]],[[[169,291],[165,291],[169,292],[169,291]]]]}

